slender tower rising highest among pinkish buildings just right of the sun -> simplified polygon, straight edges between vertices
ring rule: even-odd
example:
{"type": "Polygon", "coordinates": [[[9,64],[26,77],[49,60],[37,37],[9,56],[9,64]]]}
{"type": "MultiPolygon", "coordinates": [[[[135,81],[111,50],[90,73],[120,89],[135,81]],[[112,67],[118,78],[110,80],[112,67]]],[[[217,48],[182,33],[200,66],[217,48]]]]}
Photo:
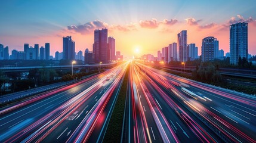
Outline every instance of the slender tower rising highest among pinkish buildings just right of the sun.
{"type": "Polygon", "coordinates": [[[178,52],[180,61],[186,62],[189,58],[189,49],[187,47],[187,30],[182,30],[180,33],[178,33],[178,52]]]}

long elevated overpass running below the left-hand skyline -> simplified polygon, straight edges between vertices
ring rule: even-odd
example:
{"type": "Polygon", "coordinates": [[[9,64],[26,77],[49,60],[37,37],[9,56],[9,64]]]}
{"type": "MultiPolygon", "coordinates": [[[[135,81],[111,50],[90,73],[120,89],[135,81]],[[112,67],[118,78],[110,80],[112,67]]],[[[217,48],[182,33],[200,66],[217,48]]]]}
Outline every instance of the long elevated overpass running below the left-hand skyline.
{"type": "MultiPolygon", "coordinates": [[[[78,68],[87,68],[87,67],[110,67],[115,66],[117,63],[108,63],[108,64],[86,64],[86,65],[73,65],[73,69],[78,68]]],[[[4,73],[11,73],[11,72],[25,72],[31,69],[54,69],[54,70],[66,70],[71,69],[72,65],[70,66],[31,66],[31,67],[0,67],[4,73]]]]}

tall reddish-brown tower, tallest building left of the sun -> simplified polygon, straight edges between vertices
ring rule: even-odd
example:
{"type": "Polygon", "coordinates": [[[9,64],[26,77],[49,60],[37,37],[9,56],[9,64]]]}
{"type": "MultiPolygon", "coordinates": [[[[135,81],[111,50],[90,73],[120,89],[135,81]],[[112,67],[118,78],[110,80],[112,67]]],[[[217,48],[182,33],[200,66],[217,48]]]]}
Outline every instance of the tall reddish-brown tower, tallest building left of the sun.
{"type": "Polygon", "coordinates": [[[95,63],[107,63],[107,29],[94,30],[92,49],[95,63]]]}

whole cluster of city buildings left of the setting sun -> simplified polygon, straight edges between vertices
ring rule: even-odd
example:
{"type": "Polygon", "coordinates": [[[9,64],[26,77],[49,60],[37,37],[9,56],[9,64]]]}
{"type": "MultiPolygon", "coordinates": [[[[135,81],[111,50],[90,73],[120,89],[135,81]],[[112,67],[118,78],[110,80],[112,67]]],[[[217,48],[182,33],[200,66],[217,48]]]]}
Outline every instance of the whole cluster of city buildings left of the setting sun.
{"type": "Polygon", "coordinates": [[[116,51],[116,39],[112,36],[107,36],[107,29],[96,29],[94,31],[94,43],[92,51],[85,49],[75,52],[75,41],[72,36],[63,36],[63,51],[55,52],[55,56],[50,55],[50,43],[45,43],[45,46],[39,48],[39,44],[34,47],[29,46],[29,43],[24,43],[24,50],[17,51],[13,49],[9,55],[8,46],[0,44],[0,60],[81,60],[85,64],[95,63],[112,63],[114,61],[123,60],[123,55],[120,51],[116,51]]]}

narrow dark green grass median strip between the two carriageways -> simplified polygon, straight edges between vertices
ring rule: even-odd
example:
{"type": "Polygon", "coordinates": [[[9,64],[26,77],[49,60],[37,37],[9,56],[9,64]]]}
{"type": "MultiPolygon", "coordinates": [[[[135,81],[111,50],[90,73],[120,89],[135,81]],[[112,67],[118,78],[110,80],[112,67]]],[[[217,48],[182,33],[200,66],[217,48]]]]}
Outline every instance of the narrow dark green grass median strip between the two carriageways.
{"type": "Polygon", "coordinates": [[[103,142],[120,142],[122,134],[122,123],[124,118],[125,98],[127,94],[129,66],[125,73],[124,81],[122,83],[116,105],[113,110],[112,116],[109,120],[109,126],[103,139],[103,142]]]}

